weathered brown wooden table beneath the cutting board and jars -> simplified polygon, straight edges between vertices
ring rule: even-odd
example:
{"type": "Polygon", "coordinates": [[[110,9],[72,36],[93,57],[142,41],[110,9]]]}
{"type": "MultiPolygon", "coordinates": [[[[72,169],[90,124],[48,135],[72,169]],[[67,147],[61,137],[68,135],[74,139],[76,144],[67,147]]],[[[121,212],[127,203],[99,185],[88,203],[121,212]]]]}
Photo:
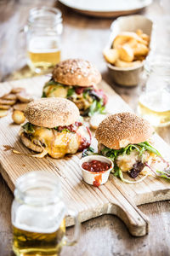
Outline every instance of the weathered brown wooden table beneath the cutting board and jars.
{"type": "MultiPolygon", "coordinates": [[[[28,10],[33,6],[54,4],[54,1],[29,0],[1,0],[0,2],[0,80],[7,79],[7,75],[26,63],[23,58],[23,40],[18,32],[26,23],[28,10]],[[18,39],[19,38],[19,39],[18,39]]],[[[139,89],[117,87],[111,81],[102,49],[109,37],[109,28],[113,19],[96,19],[78,15],[70,9],[57,4],[62,10],[64,18],[64,34],[62,58],[82,57],[92,61],[99,68],[103,78],[119,93],[122,98],[135,110],[139,89]]],[[[168,39],[165,27],[170,27],[170,3],[167,0],[154,1],[142,13],[156,21],[157,40],[168,39]],[[161,5],[160,5],[161,3],[161,5]],[[162,4],[163,3],[163,4],[162,4]]],[[[169,28],[167,29],[169,30],[169,28]]],[[[20,35],[22,37],[22,35],[20,35]]],[[[20,78],[15,73],[12,78],[20,78]]],[[[11,79],[11,77],[10,77],[11,79]]],[[[158,133],[167,143],[170,143],[170,128],[159,129],[158,133]]],[[[11,223],[10,207],[13,195],[7,184],[0,176],[0,256],[11,253],[11,223]]],[[[150,233],[148,236],[135,238],[129,235],[127,228],[115,216],[94,218],[82,224],[82,236],[74,247],[65,247],[62,256],[130,256],[130,255],[170,255],[170,204],[168,201],[147,204],[139,207],[150,218],[150,233]]],[[[73,228],[67,230],[71,236],[73,228]]]]}

